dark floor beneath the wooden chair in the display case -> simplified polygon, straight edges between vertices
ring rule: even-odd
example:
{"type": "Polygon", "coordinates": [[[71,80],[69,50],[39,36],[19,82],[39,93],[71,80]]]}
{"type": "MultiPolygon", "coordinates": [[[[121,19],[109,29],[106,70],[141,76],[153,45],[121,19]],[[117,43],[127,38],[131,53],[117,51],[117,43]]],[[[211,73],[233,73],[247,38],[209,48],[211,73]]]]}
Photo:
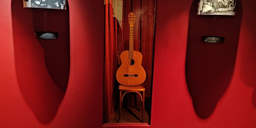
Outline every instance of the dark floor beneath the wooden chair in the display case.
{"type": "MultiPolygon", "coordinates": [[[[146,110],[143,111],[144,123],[149,123],[149,116],[146,110]]],[[[111,115],[111,121],[108,123],[117,123],[118,112],[114,112],[111,115]]],[[[121,121],[120,123],[142,123],[142,111],[135,107],[122,107],[121,121]]]]}

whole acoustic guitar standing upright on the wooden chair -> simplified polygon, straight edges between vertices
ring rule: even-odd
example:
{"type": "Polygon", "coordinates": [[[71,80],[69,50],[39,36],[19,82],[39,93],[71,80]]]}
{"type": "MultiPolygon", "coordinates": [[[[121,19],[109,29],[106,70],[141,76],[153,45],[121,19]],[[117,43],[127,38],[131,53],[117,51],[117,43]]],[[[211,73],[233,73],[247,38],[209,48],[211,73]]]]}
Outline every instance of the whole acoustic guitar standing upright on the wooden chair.
{"type": "Polygon", "coordinates": [[[133,27],[135,14],[128,15],[130,24],[129,50],[123,51],[120,55],[121,66],[117,69],[116,78],[122,85],[136,86],[142,84],[146,79],[146,72],[142,65],[142,54],[133,50],[133,27]]]}

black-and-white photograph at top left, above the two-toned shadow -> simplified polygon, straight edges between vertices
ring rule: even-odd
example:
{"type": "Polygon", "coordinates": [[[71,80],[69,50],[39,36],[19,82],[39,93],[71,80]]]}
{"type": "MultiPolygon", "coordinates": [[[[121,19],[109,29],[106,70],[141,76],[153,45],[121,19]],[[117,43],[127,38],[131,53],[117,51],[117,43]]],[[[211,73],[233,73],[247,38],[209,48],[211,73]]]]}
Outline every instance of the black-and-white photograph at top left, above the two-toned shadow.
{"type": "Polygon", "coordinates": [[[66,0],[23,0],[23,7],[66,9],[66,0]]]}

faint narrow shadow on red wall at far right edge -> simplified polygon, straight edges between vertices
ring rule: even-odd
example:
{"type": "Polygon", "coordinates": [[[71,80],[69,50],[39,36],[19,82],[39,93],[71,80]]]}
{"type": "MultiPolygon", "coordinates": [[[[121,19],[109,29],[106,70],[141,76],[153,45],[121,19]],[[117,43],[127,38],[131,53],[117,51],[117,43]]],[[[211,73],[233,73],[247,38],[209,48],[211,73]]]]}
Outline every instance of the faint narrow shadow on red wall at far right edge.
{"type": "MultiPolygon", "coordinates": [[[[249,12],[253,12],[254,8],[248,8],[249,12]]],[[[240,69],[240,76],[242,82],[254,88],[252,92],[252,105],[256,108],[256,44],[255,44],[255,33],[256,29],[255,24],[256,17],[252,16],[251,13],[245,13],[245,15],[249,15],[244,18],[246,24],[244,25],[244,31],[241,32],[243,44],[241,45],[242,49],[242,58],[241,58],[241,69],[240,69]]]]}

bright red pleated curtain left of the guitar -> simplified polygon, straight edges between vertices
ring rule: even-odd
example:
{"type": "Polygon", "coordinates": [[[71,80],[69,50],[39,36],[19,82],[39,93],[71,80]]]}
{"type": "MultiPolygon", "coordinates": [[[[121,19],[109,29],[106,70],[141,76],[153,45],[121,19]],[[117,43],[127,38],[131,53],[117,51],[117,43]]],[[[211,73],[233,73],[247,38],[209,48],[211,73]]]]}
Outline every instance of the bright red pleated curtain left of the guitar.
{"type": "Polygon", "coordinates": [[[117,71],[117,23],[113,17],[112,0],[105,4],[105,77],[104,77],[104,98],[103,117],[104,123],[111,120],[113,113],[113,88],[117,71]]]}

